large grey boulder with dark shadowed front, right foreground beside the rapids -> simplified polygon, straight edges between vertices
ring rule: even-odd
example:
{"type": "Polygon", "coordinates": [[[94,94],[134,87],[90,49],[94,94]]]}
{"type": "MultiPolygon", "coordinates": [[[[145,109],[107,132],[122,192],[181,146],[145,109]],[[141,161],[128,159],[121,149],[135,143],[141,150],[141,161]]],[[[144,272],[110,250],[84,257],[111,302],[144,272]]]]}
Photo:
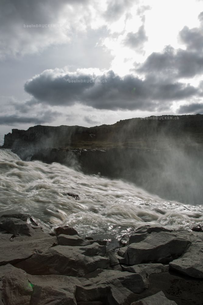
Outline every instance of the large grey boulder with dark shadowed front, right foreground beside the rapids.
{"type": "Polygon", "coordinates": [[[126,264],[136,265],[162,259],[168,261],[171,257],[180,256],[187,245],[191,243],[173,235],[170,232],[152,232],[145,240],[132,243],[125,253],[126,264]]]}

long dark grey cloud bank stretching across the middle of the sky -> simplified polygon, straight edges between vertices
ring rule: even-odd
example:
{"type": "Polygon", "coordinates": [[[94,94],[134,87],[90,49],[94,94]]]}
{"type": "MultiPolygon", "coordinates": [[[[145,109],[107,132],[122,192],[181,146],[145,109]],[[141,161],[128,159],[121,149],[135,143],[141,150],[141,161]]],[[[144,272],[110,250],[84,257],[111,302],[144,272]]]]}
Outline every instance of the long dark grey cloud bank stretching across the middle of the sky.
{"type": "Polygon", "coordinates": [[[57,71],[46,70],[27,81],[25,91],[48,105],[70,106],[79,102],[96,109],[111,110],[156,110],[163,108],[164,103],[169,109],[170,102],[198,93],[198,89],[190,84],[150,76],[142,80],[133,75],[120,77],[109,71],[96,77],[97,82],[90,83],[92,78],[90,74],[59,75],[57,71]],[[81,79],[82,83],[76,82],[81,79]]]}

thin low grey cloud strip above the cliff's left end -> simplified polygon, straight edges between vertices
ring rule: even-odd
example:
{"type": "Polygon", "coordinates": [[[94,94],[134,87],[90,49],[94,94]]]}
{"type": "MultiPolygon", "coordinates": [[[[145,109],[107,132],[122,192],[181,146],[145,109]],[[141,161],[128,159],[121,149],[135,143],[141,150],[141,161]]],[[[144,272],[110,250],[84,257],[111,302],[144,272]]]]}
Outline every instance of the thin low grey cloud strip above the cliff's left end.
{"type": "Polygon", "coordinates": [[[55,120],[60,113],[52,112],[52,111],[45,111],[44,114],[32,117],[22,117],[17,114],[11,115],[2,115],[0,116],[0,124],[1,125],[13,125],[13,124],[23,124],[23,123],[34,123],[34,124],[44,124],[49,123],[55,120]]]}

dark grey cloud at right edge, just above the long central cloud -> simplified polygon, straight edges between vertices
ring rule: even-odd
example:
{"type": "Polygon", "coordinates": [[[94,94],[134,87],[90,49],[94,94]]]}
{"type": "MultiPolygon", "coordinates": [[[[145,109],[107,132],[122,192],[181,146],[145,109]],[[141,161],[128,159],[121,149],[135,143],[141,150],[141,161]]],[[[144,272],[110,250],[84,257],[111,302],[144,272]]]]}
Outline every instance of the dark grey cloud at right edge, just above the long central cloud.
{"type": "Polygon", "coordinates": [[[165,52],[153,52],[136,71],[162,75],[167,78],[190,78],[203,72],[203,54],[187,50],[175,50],[168,45],[165,52]],[[177,52],[176,52],[177,51],[177,52]]]}

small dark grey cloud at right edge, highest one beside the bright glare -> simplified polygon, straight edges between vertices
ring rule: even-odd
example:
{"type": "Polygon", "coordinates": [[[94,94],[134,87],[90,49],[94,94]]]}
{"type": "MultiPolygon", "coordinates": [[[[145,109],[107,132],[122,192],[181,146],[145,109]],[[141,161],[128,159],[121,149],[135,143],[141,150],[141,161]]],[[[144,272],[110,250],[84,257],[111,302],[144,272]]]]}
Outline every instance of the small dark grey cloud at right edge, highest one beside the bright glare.
{"type": "Polygon", "coordinates": [[[185,26],[179,33],[180,41],[187,46],[187,50],[203,50],[203,12],[199,14],[198,19],[200,20],[199,27],[189,29],[185,26]]]}

